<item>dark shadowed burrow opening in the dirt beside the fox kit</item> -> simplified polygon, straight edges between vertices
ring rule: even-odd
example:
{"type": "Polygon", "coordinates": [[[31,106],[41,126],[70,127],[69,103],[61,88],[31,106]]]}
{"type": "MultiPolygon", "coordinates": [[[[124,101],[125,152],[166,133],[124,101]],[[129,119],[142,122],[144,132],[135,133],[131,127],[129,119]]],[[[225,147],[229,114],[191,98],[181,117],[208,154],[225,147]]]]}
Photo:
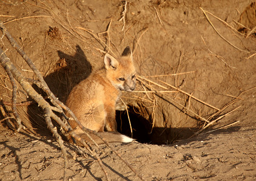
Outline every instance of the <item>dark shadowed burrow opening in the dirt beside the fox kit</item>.
{"type": "Polygon", "coordinates": [[[133,106],[129,107],[128,114],[129,118],[127,116],[127,110],[116,111],[118,132],[130,136],[143,144],[172,144],[177,140],[190,138],[198,129],[193,127],[154,127],[153,124],[148,119],[144,118],[142,114],[138,112],[138,109],[133,106]]]}

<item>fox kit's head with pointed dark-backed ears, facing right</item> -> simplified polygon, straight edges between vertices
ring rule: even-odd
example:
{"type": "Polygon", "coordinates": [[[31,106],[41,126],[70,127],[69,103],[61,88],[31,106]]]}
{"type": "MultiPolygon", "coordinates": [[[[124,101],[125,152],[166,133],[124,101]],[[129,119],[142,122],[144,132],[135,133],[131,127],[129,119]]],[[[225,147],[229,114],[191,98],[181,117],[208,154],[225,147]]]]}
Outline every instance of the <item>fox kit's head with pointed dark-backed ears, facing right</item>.
{"type": "Polygon", "coordinates": [[[136,71],[133,65],[130,46],[124,49],[119,59],[106,54],[104,65],[106,68],[106,77],[116,89],[127,92],[132,92],[135,89],[136,71]]]}

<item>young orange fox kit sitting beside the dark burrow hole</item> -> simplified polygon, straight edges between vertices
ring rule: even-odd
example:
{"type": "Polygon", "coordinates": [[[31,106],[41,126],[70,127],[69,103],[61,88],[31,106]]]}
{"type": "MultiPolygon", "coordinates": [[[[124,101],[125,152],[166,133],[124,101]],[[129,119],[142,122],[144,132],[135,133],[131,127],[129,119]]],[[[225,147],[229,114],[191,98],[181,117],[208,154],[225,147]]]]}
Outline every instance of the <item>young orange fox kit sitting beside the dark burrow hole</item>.
{"type": "MultiPolygon", "coordinates": [[[[132,138],[117,132],[115,104],[122,90],[132,92],[135,89],[135,74],[129,46],[124,49],[119,59],[106,54],[104,67],[71,90],[66,106],[74,112],[84,127],[97,131],[108,142],[131,142],[132,138]]],[[[90,141],[73,119],[68,122],[75,129],[75,133],[90,141]]],[[[97,144],[103,143],[98,136],[90,136],[97,144]]],[[[71,138],[68,139],[72,142],[71,138]]]]}

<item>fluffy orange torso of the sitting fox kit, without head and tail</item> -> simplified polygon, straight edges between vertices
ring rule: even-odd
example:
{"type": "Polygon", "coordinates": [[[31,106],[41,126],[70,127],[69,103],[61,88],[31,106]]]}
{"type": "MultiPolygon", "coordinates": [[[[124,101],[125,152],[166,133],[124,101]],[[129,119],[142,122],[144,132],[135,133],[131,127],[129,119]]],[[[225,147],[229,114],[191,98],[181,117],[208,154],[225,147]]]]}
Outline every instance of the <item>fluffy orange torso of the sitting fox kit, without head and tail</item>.
{"type": "MultiPolygon", "coordinates": [[[[97,72],[81,81],[72,89],[66,102],[84,127],[97,132],[117,129],[112,122],[115,121],[115,104],[121,92],[104,75],[97,72]]],[[[73,120],[69,124],[73,128],[77,125],[73,120]]]]}

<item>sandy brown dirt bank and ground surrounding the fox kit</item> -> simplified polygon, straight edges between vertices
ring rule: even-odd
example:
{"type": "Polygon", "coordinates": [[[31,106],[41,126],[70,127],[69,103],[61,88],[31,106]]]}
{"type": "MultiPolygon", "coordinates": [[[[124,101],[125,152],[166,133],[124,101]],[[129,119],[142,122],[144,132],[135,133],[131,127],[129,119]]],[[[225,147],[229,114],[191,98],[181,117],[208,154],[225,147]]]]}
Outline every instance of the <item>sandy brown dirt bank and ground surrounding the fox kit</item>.
{"type": "MultiPolygon", "coordinates": [[[[126,103],[136,106],[148,121],[138,124],[136,116],[132,120],[136,138],[147,144],[135,141],[111,145],[144,179],[256,180],[256,46],[255,34],[250,34],[255,27],[255,3],[245,0],[127,2],[125,23],[119,21],[124,2],[100,0],[4,0],[0,2],[0,20],[61,101],[65,101],[75,84],[102,65],[105,52],[117,56],[130,45],[136,47],[138,75],[187,72],[152,80],[180,87],[219,109],[232,103],[216,118],[235,109],[233,112],[195,136],[204,122],[178,105],[189,107],[202,118],[208,118],[216,110],[197,101],[190,102],[181,93],[162,94],[157,98],[149,94],[140,101],[141,94],[125,94],[126,103]],[[224,40],[199,7],[242,34],[208,13],[224,40]],[[148,135],[154,120],[153,132],[148,135]]],[[[7,56],[22,74],[34,78],[6,39],[1,39],[0,45],[8,49],[7,56]]],[[[12,116],[7,105],[11,101],[11,84],[4,69],[0,73],[1,103],[5,104],[7,116],[12,116]]],[[[138,82],[137,90],[142,88],[138,82]]],[[[19,90],[18,102],[22,101],[27,101],[27,97],[19,90]]],[[[63,179],[62,152],[46,129],[37,105],[19,106],[18,111],[28,129],[17,133],[1,121],[0,180],[63,179]]],[[[5,118],[0,116],[1,120],[5,118]]],[[[69,180],[106,179],[97,160],[85,148],[80,148],[87,153],[83,155],[73,145],[65,143],[65,146],[69,155],[66,173],[69,180]]],[[[139,180],[109,148],[101,145],[101,150],[111,180],[139,180]]]]}

